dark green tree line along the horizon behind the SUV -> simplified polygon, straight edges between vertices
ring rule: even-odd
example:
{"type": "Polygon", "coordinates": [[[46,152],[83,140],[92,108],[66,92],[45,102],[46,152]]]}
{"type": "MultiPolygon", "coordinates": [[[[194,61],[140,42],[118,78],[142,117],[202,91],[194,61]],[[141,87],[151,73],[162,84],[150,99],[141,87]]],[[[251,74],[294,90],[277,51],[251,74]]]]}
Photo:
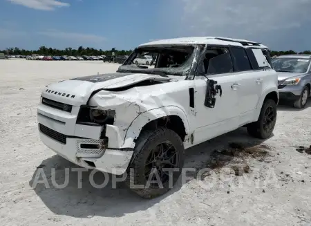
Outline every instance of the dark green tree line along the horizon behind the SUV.
{"type": "MultiPolygon", "coordinates": [[[[83,46],[79,46],[79,48],[65,48],[64,50],[59,50],[57,48],[47,48],[46,46],[41,46],[38,50],[25,50],[20,48],[6,48],[6,50],[0,50],[0,53],[4,53],[7,55],[52,55],[52,56],[100,56],[100,55],[111,55],[115,53],[115,55],[130,55],[133,50],[117,50],[115,48],[111,48],[111,50],[97,50],[95,48],[84,48],[83,46]]],[[[279,56],[279,55],[290,55],[290,54],[310,54],[310,50],[305,50],[303,52],[295,52],[294,50],[286,50],[286,51],[271,51],[271,56],[279,56]]]]}

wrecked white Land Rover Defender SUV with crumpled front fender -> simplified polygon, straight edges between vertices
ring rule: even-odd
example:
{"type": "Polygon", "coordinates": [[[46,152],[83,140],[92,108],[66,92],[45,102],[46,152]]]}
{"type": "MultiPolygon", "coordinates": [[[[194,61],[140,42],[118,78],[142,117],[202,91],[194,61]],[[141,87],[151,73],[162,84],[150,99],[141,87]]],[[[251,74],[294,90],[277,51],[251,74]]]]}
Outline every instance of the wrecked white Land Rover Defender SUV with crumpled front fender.
{"type": "Polygon", "coordinates": [[[241,126],[253,137],[270,137],[279,102],[270,65],[270,51],[254,41],[189,37],[142,44],[116,73],[46,87],[39,135],[59,156],[126,174],[140,196],[160,196],[180,176],[185,149],[241,126]],[[144,55],[152,62],[135,64],[144,55]]]}

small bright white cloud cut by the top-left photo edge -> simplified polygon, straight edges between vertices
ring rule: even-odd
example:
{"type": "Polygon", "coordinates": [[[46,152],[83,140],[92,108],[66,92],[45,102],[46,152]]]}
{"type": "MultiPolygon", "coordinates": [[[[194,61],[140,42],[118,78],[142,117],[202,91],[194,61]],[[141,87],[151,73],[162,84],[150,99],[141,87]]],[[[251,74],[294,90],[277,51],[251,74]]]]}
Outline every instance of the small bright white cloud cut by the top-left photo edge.
{"type": "Polygon", "coordinates": [[[35,10],[54,10],[55,8],[70,6],[69,3],[57,0],[8,0],[8,1],[35,10]]]}

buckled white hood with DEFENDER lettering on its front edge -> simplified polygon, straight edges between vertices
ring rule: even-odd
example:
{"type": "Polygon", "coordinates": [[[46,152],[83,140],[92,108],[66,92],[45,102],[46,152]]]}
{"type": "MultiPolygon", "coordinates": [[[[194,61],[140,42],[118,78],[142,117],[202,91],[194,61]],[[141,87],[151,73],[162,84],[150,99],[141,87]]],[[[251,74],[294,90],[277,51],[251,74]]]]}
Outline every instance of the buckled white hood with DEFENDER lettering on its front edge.
{"type": "Polygon", "coordinates": [[[147,79],[169,81],[171,78],[141,73],[91,75],[50,84],[42,91],[41,96],[57,102],[80,106],[86,104],[94,91],[129,86],[147,79]]]}

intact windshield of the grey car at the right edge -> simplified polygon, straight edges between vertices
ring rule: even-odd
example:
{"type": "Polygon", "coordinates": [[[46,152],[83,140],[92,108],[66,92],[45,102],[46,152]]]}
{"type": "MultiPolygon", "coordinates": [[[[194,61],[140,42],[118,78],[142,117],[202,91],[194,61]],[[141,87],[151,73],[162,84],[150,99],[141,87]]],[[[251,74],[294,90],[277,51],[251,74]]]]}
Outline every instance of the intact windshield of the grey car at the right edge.
{"type": "Polygon", "coordinates": [[[281,57],[272,59],[274,70],[280,72],[305,73],[308,70],[310,60],[303,58],[281,57]]]}

